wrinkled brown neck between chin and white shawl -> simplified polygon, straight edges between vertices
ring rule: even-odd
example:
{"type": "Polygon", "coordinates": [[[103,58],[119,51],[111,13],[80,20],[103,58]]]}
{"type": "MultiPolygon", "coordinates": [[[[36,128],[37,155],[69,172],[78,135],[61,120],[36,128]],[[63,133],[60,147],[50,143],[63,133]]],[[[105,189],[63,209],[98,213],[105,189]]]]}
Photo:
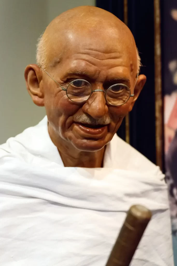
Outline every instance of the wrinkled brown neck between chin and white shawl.
{"type": "Polygon", "coordinates": [[[53,132],[50,132],[50,128],[49,135],[54,145],[58,148],[65,167],[103,167],[105,147],[96,152],[80,151],[58,135],[55,136],[53,132]]]}

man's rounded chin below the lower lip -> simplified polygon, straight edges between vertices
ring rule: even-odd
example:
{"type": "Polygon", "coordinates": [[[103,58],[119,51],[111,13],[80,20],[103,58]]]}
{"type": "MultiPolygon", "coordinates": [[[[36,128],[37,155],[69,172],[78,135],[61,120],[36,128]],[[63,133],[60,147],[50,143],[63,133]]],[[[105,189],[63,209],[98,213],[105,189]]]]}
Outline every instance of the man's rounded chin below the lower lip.
{"type": "Polygon", "coordinates": [[[73,141],[72,145],[80,151],[96,152],[105,147],[108,142],[109,140],[106,142],[105,140],[82,139],[76,142],[73,141]]]}

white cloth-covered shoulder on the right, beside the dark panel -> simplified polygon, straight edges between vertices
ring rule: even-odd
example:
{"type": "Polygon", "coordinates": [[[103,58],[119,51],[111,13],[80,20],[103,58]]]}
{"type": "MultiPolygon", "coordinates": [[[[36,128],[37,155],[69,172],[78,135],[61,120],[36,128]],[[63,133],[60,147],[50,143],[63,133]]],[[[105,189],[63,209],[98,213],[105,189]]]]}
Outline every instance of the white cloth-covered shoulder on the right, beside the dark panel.
{"type": "Polygon", "coordinates": [[[116,134],[109,144],[108,153],[112,167],[136,172],[148,171],[152,174],[163,176],[158,166],[116,134]]]}

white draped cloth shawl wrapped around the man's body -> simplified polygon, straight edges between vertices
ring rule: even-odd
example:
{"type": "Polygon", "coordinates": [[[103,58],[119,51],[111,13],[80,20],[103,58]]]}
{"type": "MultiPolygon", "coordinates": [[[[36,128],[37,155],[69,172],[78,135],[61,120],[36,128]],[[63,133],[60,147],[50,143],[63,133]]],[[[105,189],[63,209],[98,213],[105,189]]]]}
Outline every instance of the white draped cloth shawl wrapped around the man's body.
{"type": "Polygon", "coordinates": [[[64,167],[45,117],[0,146],[0,265],[105,266],[133,204],[153,218],[131,265],[172,266],[159,168],[116,135],[104,168],[64,167]]]}

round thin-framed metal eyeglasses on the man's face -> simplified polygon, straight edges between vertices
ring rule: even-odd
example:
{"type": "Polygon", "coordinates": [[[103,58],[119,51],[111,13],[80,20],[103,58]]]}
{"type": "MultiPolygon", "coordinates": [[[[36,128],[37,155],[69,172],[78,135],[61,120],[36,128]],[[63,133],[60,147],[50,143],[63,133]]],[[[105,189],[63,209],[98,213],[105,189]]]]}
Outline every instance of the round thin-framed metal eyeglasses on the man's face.
{"type": "MultiPolygon", "coordinates": [[[[50,76],[50,74],[44,68],[42,69],[50,76]]],[[[67,88],[63,88],[53,77],[51,78],[62,88],[62,90],[66,91],[67,97],[72,102],[76,103],[87,101],[93,92],[103,92],[105,94],[107,103],[114,106],[123,105],[129,100],[130,97],[134,96],[134,94],[131,94],[130,89],[125,84],[114,84],[106,90],[92,90],[92,86],[87,80],[77,79],[71,81],[67,88]]]]}

